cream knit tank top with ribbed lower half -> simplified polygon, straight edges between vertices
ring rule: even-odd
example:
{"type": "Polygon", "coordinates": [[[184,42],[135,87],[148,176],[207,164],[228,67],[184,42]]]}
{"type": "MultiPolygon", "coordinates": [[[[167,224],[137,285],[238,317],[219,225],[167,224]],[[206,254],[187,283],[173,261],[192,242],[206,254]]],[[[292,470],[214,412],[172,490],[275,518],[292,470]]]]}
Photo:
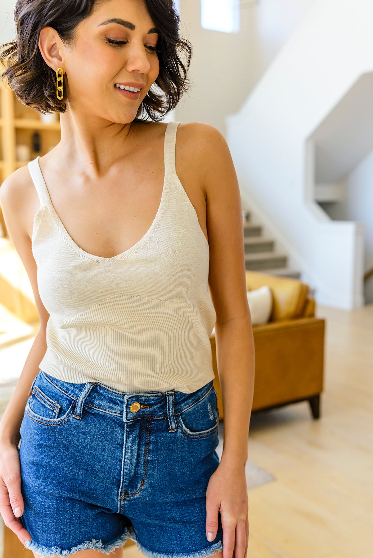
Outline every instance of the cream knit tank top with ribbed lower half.
{"type": "Polygon", "coordinates": [[[32,253],[50,314],[39,367],[55,378],[130,393],[191,393],[214,378],[209,246],[176,175],[178,124],[166,126],[155,219],[132,248],[111,258],[75,244],[51,203],[39,156],[28,163],[41,203],[32,253]]]}

